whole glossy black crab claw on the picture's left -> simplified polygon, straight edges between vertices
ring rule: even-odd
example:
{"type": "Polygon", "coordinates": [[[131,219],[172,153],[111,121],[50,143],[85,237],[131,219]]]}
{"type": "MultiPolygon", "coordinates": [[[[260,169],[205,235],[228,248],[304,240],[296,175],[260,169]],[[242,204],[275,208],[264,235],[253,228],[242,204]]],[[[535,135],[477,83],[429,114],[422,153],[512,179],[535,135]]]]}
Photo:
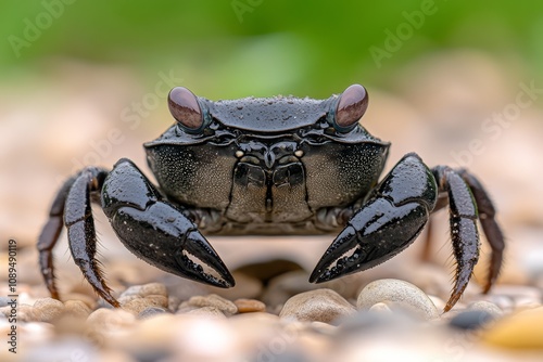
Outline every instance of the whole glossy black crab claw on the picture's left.
{"type": "Polygon", "coordinates": [[[126,248],[150,264],[213,286],[235,285],[197,225],[162,199],[130,160],[119,160],[105,179],[102,207],[126,248]]]}

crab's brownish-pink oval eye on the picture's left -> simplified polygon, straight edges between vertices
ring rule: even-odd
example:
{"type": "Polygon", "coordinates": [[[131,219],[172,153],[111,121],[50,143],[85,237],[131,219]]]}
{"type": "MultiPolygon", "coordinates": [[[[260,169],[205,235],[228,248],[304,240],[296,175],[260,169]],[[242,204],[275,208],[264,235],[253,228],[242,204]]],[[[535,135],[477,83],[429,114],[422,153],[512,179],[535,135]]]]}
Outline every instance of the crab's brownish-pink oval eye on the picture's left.
{"type": "Polygon", "coordinates": [[[202,109],[200,109],[197,96],[187,88],[172,89],[168,94],[168,107],[172,116],[188,131],[198,131],[202,127],[202,109]]]}

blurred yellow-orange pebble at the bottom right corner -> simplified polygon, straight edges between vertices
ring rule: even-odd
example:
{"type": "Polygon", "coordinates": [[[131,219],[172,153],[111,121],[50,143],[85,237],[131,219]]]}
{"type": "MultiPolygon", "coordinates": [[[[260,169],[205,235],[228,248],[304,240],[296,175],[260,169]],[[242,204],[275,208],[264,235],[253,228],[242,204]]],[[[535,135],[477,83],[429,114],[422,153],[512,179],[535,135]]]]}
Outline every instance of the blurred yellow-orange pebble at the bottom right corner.
{"type": "Polygon", "coordinates": [[[482,333],[489,345],[512,349],[543,349],[543,307],[525,310],[496,322],[482,333]]]}

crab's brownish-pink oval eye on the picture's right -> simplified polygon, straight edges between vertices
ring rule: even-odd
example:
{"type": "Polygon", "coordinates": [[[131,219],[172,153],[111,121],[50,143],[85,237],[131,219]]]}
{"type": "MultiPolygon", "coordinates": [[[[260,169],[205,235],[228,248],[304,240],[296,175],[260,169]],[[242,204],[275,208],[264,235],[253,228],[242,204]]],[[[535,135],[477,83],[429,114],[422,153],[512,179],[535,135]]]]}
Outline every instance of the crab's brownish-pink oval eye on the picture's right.
{"type": "Polygon", "coordinates": [[[368,107],[368,93],[361,85],[353,85],[341,94],[336,108],[336,126],[339,131],[351,130],[368,107]]]}

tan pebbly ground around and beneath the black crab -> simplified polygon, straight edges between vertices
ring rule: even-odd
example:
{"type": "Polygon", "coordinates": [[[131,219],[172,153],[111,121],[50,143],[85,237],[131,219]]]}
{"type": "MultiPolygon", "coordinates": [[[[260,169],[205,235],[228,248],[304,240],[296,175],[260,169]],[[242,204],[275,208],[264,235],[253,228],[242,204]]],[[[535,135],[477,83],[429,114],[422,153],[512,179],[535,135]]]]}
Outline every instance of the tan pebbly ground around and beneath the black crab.
{"type": "Polygon", "coordinates": [[[472,282],[444,314],[454,263],[443,211],[434,216],[429,258],[422,234],[394,259],[320,285],[307,283],[308,272],[332,235],[211,237],[237,280],[227,290],[138,260],[99,216],[100,259],[122,308],[96,297],[64,234],[55,250],[62,301],[49,298],[35,243],[55,189],[86,163],[111,167],[128,156],[149,173],[141,143],[172,122],[164,100],[139,119],[119,117],[147,96],[126,70],[49,67],[50,76],[0,89],[1,361],[541,361],[543,111],[540,94],[527,91],[536,85],[510,64],[437,54],[399,72],[394,92],[369,90],[364,125],[393,142],[389,169],[411,151],[431,166],[469,167],[498,209],[507,253],[497,285],[480,293],[483,242],[472,282]],[[10,238],[17,245],[16,323],[10,238]],[[16,354],[9,351],[13,325],[16,354]]]}

